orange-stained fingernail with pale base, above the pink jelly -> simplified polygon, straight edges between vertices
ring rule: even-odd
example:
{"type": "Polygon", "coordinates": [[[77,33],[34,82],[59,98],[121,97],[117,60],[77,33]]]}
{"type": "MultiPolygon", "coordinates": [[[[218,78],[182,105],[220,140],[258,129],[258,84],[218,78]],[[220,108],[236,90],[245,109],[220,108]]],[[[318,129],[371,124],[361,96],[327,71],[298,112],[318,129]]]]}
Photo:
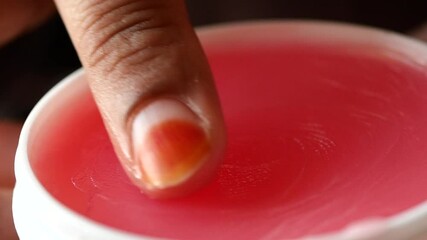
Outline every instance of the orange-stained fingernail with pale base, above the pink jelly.
{"type": "Polygon", "coordinates": [[[135,116],[134,157],[148,190],[178,186],[207,159],[209,141],[199,118],[180,101],[156,100],[135,116]]]}

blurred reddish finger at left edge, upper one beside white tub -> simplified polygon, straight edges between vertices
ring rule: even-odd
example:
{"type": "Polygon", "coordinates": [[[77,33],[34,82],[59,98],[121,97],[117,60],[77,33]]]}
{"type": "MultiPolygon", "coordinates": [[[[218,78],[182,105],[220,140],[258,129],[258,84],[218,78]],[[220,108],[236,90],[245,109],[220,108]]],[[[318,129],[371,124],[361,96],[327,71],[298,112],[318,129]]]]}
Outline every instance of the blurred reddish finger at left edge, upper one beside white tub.
{"type": "Polygon", "coordinates": [[[15,183],[14,159],[22,124],[0,121],[0,186],[13,187],[15,183]]]}

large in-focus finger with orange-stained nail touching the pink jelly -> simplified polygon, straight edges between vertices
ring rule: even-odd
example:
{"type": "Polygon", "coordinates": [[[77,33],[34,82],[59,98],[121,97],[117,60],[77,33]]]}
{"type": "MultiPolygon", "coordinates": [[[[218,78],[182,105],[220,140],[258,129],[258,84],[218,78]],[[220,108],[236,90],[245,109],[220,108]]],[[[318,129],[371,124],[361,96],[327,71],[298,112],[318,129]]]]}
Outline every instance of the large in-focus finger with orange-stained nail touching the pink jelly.
{"type": "Polygon", "coordinates": [[[184,1],[56,4],[134,182],[154,197],[205,183],[224,149],[224,124],[184,1]]]}

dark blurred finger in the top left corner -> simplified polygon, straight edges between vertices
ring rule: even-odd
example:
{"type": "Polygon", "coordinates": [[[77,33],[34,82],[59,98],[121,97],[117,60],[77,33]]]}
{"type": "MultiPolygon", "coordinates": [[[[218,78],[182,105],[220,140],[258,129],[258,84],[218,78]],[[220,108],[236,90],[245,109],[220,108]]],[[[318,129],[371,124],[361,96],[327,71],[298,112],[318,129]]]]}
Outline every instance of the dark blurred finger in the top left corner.
{"type": "Polygon", "coordinates": [[[40,24],[53,11],[51,0],[0,0],[0,46],[40,24]]]}

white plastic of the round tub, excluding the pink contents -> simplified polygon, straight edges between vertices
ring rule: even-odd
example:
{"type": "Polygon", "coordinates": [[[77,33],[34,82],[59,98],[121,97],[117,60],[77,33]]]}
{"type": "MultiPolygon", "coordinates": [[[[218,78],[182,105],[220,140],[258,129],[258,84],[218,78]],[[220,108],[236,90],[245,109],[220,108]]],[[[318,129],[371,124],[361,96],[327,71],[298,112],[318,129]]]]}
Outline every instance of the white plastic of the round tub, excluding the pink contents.
{"type": "MultiPolygon", "coordinates": [[[[320,22],[243,23],[208,27],[200,30],[199,35],[202,42],[208,45],[228,41],[236,35],[248,41],[258,41],[259,38],[251,38],[251,36],[256,36],[260,30],[267,39],[271,37],[276,40],[277,38],[291,40],[315,38],[317,41],[369,44],[378,46],[378,49],[393,49],[395,54],[400,54],[427,68],[427,47],[424,44],[388,32],[351,25],[320,22]]],[[[59,111],[64,106],[72,104],[76,93],[87,90],[86,82],[80,78],[82,74],[81,70],[77,71],[46,94],[31,112],[23,127],[16,155],[17,184],[13,198],[13,215],[20,239],[155,239],[113,229],[73,212],[43,188],[31,169],[28,150],[32,146],[32,141],[37,141],[37,139],[31,139],[31,132],[40,130],[38,129],[40,122],[53,121],[44,117],[46,112],[59,111]]],[[[352,223],[339,232],[307,236],[303,239],[422,240],[426,238],[427,201],[390,218],[352,223]]]]}

